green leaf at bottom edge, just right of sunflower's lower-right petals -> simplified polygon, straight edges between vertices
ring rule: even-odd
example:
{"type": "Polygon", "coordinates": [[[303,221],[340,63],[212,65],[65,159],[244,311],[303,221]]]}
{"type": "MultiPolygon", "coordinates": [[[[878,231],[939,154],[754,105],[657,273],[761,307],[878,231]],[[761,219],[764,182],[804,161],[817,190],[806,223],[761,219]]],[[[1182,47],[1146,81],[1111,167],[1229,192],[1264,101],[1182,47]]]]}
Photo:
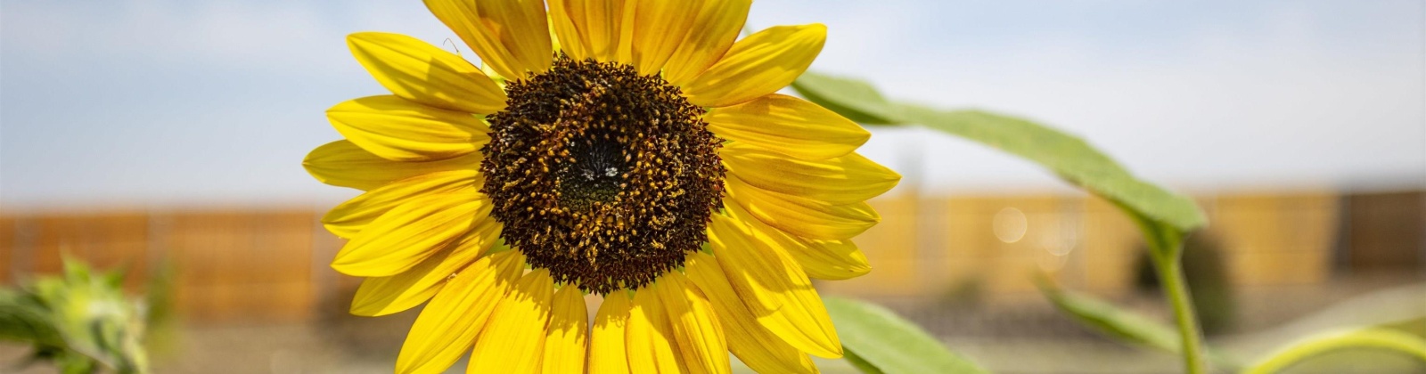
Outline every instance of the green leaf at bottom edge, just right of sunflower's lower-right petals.
{"type": "Polygon", "coordinates": [[[887,308],[838,297],[823,303],[847,360],[864,373],[985,373],[887,308]]]}

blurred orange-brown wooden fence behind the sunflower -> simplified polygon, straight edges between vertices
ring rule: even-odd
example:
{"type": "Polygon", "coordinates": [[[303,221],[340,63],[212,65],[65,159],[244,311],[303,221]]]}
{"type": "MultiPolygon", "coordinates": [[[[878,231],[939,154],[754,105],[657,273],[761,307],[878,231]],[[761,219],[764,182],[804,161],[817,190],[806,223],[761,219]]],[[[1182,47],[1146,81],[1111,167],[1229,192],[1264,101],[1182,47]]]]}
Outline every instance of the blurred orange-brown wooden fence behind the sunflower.
{"type": "MultiPolygon", "coordinates": [[[[1229,280],[1242,287],[1329,281],[1343,263],[1342,217],[1352,217],[1340,201],[1330,191],[1201,200],[1224,244],[1229,280]]],[[[1104,295],[1132,290],[1139,236],[1097,198],[901,197],[873,204],[883,223],[856,241],[876,270],[821,283],[824,293],[934,300],[970,287],[992,303],[1020,304],[1038,300],[1035,273],[1104,295]]],[[[188,321],[307,321],[324,300],[349,295],[356,284],[327,266],[344,241],[322,230],[319,217],[305,208],[0,213],[0,280],[58,271],[61,254],[141,276],[170,264],[177,307],[188,321]]],[[[1397,231],[1420,236],[1385,233],[1397,231]]],[[[137,291],[143,281],[131,277],[127,287],[137,291]]]]}

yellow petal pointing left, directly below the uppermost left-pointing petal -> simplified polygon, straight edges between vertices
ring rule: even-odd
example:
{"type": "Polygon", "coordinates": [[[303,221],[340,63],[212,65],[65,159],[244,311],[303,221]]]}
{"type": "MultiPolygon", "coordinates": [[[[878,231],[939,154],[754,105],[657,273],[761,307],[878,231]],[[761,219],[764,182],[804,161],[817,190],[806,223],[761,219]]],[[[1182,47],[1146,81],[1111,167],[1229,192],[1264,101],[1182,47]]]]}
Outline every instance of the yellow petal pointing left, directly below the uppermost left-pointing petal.
{"type": "Polygon", "coordinates": [[[491,141],[491,128],[469,113],[422,106],[395,96],[337,104],[327,110],[327,120],[352,144],[392,161],[461,157],[491,141]]]}

